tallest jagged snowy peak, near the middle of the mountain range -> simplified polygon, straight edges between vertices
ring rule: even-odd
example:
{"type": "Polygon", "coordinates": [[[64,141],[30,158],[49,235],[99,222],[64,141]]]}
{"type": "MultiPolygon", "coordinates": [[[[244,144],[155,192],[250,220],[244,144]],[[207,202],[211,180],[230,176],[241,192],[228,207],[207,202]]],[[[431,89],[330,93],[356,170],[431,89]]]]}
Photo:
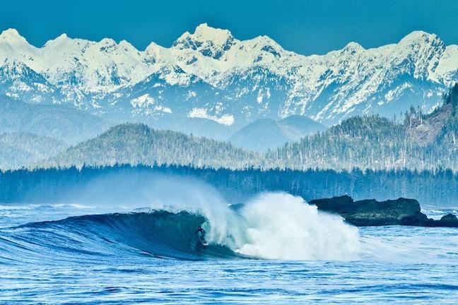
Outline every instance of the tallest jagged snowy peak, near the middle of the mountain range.
{"type": "Polygon", "coordinates": [[[235,44],[229,30],[211,28],[206,23],[197,26],[194,34],[184,34],[173,43],[175,49],[193,49],[204,56],[219,59],[235,44]]]}

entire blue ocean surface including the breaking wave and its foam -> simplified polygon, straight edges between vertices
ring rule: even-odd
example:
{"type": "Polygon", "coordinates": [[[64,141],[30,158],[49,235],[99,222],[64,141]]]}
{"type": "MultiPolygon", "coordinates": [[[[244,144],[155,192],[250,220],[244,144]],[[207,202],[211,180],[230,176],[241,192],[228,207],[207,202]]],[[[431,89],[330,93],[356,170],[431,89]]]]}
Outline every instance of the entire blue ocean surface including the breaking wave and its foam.
{"type": "Polygon", "coordinates": [[[0,204],[0,304],[457,304],[458,229],[195,206],[0,204]]]}

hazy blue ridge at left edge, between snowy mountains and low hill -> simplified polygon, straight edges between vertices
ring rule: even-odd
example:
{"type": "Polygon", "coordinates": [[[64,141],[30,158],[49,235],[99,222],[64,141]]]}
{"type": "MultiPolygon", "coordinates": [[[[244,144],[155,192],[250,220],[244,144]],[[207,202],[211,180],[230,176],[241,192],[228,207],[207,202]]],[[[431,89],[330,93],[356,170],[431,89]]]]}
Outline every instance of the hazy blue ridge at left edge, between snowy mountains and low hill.
{"type": "Polygon", "coordinates": [[[105,120],[72,107],[28,104],[0,96],[0,133],[35,133],[77,143],[107,128],[105,120]]]}

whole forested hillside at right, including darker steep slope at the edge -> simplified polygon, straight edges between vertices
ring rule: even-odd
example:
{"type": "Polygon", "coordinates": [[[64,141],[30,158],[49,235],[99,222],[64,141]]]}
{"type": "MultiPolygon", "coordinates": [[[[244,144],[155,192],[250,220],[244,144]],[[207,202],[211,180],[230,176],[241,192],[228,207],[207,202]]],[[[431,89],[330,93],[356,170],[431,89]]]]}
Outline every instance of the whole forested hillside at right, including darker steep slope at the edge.
{"type": "Polygon", "coordinates": [[[356,116],[266,155],[269,167],[290,169],[458,170],[458,85],[431,114],[406,112],[402,124],[356,116]]]}

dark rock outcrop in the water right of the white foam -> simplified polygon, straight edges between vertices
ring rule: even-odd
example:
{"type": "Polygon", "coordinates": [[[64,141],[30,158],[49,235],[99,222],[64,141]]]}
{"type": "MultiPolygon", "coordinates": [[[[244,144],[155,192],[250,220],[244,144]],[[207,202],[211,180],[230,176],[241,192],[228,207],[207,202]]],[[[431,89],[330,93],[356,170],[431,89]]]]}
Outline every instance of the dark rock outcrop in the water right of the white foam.
{"type": "Polygon", "coordinates": [[[310,201],[319,210],[338,213],[346,222],[356,226],[411,225],[421,227],[458,227],[458,219],[452,214],[441,220],[432,220],[421,213],[415,199],[353,201],[350,196],[339,196],[310,201]]]}

